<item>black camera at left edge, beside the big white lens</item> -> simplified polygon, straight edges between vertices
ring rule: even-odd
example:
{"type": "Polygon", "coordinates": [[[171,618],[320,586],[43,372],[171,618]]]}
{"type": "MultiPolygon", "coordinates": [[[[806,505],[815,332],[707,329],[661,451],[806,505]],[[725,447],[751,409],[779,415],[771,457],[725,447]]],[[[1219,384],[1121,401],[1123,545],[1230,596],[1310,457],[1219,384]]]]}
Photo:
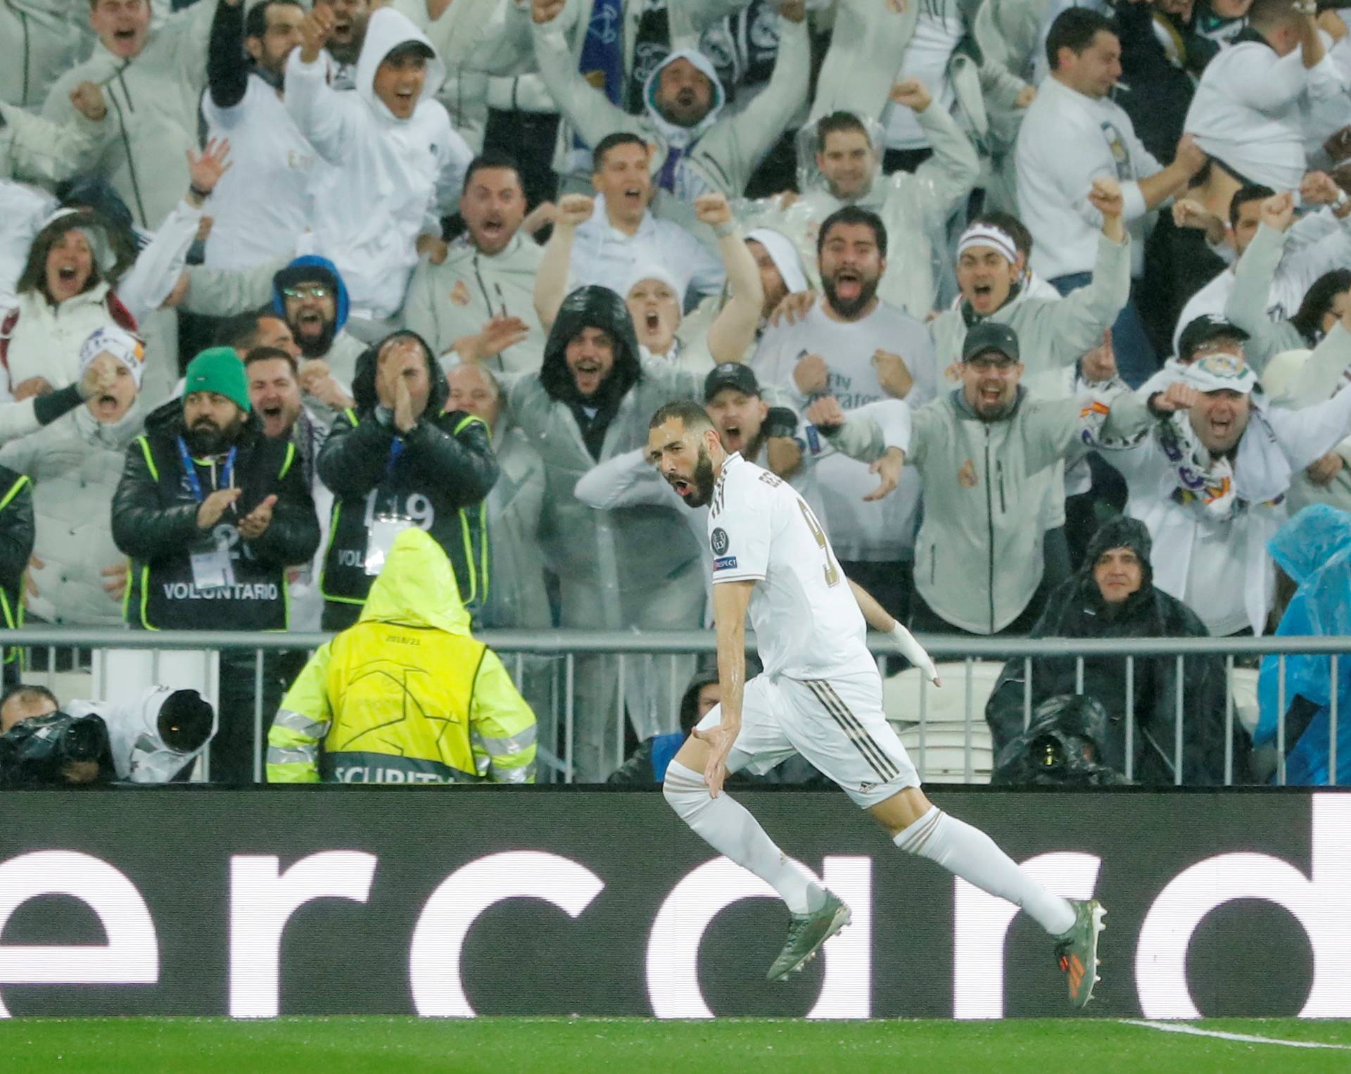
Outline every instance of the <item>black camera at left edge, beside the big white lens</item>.
{"type": "Polygon", "coordinates": [[[112,775],[108,727],[97,716],[49,712],[0,735],[0,789],[105,784],[112,775]]]}

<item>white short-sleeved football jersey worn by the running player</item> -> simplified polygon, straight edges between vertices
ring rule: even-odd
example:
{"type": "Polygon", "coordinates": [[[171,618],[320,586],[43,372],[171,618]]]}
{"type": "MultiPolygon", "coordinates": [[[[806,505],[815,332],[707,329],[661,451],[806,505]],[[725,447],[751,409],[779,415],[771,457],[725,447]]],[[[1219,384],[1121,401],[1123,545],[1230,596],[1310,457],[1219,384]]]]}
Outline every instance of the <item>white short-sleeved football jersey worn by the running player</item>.
{"type": "Polygon", "coordinates": [[[766,674],[830,678],[877,670],[867,624],[807,501],[734,454],[708,508],[713,585],[754,581],[750,619],[766,674]]]}

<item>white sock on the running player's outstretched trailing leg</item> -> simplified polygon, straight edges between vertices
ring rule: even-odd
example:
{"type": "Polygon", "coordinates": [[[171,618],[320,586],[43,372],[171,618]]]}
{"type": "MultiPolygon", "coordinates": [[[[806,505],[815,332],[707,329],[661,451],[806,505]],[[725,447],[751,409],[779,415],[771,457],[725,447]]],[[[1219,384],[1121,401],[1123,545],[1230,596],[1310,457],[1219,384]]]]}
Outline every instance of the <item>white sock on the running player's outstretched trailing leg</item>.
{"type": "Polygon", "coordinates": [[[928,858],[982,892],[1021,906],[1052,936],[1069,932],[1074,908],[1047,892],[979,828],[948,816],[936,805],[892,839],[907,854],[928,858]]]}

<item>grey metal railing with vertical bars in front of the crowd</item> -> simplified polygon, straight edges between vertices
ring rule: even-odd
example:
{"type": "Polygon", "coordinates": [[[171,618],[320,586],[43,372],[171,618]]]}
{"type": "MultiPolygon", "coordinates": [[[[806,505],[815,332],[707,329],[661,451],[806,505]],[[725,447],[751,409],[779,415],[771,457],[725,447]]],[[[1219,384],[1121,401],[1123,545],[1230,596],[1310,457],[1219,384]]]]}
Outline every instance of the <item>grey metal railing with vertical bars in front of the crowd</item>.
{"type": "MultiPolygon", "coordinates": [[[[316,647],[328,640],[326,634],[239,634],[231,631],[120,631],[120,630],[92,630],[92,628],[36,628],[23,627],[7,632],[7,643],[20,646],[30,653],[46,650],[47,667],[57,666],[57,654],[62,650],[218,650],[232,653],[253,653],[254,690],[253,690],[253,717],[255,731],[254,775],[258,781],[263,778],[262,755],[266,748],[265,727],[270,721],[272,713],[263,707],[263,666],[265,655],[273,653],[312,653],[316,647]]],[[[597,632],[597,631],[485,631],[478,638],[490,646],[504,661],[508,670],[527,700],[532,700],[540,721],[540,769],[544,778],[558,778],[562,782],[574,782],[578,775],[590,773],[580,771],[577,763],[578,752],[578,720],[582,713],[577,711],[578,692],[578,661],[603,658],[612,663],[603,665],[598,670],[589,669],[592,677],[600,675],[601,693],[608,693],[604,704],[605,716],[601,719],[588,717],[586,724],[603,728],[603,734],[609,738],[615,754],[605,755],[604,771],[594,771],[598,778],[604,778],[605,771],[617,767],[624,759],[626,723],[634,717],[635,712],[635,684],[638,690],[651,690],[665,688],[663,697],[673,698],[666,709],[666,721],[661,730],[677,730],[677,707],[680,693],[684,692],[689,677],[688,670],[681,673],[684,665],[692,666],[692,658],[712,657],[716,654],[716,638],[711,631],[673,631],[673,632],[597,632]],[[657,666],[666,663],[666,671],[657,671],[657,666]],[[539,684],[531,686],[528,682],[532,673],[531,663],[535,662],[535,671],[544,671],[540,678],[547,682],[547,700],[539,702],[542,692],[539,684]],[[543,662],[539,666],[539,662],[543,662]],[[605,685],[604,677],[612,677],[613,684],[605,685]],[[535,694],[532,698],[531,694],[535,694]],[[561,727],[559,727],[561,721],[561,727]]],[[[1286,711],[1289,708],[1286,692],[1286,658],[1290,655],[1327,655],[1331,659],[1331,681],[1337,681],[1339,659],[1351,654],[1351,636],[1339,638],[1135,638],[1135,639],[1065,639],[1065,638],[967,638],[967,636],[939,636],[931,635],[920,639],[928,653],[938,662],[961,661],[965,671],[963,712],[959,724],[963,735],[963,765],[961,771],[962,782],[982,781],[988,778],[988,770],[979,771],[974,762],[977,742],[988,735],[985,724],[984,700],[977,700],[974,685],[974,670],[985,661],[1008,661],[1021,658],[1024,661],[1024,697],[1023,697],[1023,725],[1031,721],[1032,715],[1032,661],[1043,658],[1073,658],[1075,661],[1077,689],[1084,686],[1085,661],[1094,657],[1121,657],[1124,665],[1124,708],[1125,708],[1125,775],[1133,778],[1133,746],[1139,734],[1135,721],[1135,661],[1139,658],[1173,658],[1177,661],[1175,674],[1175,711],[1174,711],[1174,740],[1173,771],[1174,782],[1183,782],[1183,723],[1185,712],[1185,662],[1196,657],[1223,657],[1225,667],[1225,757],[1224,782],[1232,784],[1235,774],[1233,757],[1233,728],[1238,719],[1235,705],[1235,661],[1242,658],[1275,655],[1277,665],[1277,734],[1274,743],[1274,757],[1270,758],[1274,767],[1273,781],[1283,785],[1286,782],[1286,711]]],[[[747,640],[748,651],[754,651],[754,638],[747,640]]],[[[894,655],[894,646],[882,636],[870,638],[870,648],[880,659],[894,655]]],[[[49,670],[50,677],[50,670],[49,670]]],[[[28,671],[24,681],[43,682],[42,671],[28,671]]],[[[593,684],[594,685],[594,684],[593,684]]],[[[901,723],[911,732],[912,750],[917,746],[917,767],[921,775],[927,773],[927,746],[934,723],[931,712],[931,686],[919,684],[919,702],[913,713],[889,712],[893,723],[901,723]]],[[[68,698],[62,697],[62,701],[68,698]]],[[[1337,690],[1331,692],[1329,707],[1329,744],[1328,769],[1329,779],[1336,784],[1337,767],[1337,690]]],[[[955,727],[948,723],[947,727],[955,727]]],[[[902,736],[904,738],[904,736],[902,736]]],[[[955,773],[948,773],[955,775],[955,773]]],[[[1263,779],[1265,782],[1265,779],[1263,779]]]]}

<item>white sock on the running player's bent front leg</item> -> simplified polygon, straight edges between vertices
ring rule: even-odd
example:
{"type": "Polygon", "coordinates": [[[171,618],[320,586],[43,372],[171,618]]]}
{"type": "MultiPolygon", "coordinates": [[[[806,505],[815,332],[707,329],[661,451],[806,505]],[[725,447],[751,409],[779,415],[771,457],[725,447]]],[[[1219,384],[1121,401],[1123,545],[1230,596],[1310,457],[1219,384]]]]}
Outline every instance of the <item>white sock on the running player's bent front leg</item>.
{"type": "Polygon", "coordinates": [[[666,766],[662,793],[680,819],[705,843],[769,884],[789,911],[807,913],[824,902],[824,892],[788,861],[788,855],[765,835],[746,807],[734,801],[725,790],[716,798],[709,796],[703,773],[673,761],[666,766]]]}

